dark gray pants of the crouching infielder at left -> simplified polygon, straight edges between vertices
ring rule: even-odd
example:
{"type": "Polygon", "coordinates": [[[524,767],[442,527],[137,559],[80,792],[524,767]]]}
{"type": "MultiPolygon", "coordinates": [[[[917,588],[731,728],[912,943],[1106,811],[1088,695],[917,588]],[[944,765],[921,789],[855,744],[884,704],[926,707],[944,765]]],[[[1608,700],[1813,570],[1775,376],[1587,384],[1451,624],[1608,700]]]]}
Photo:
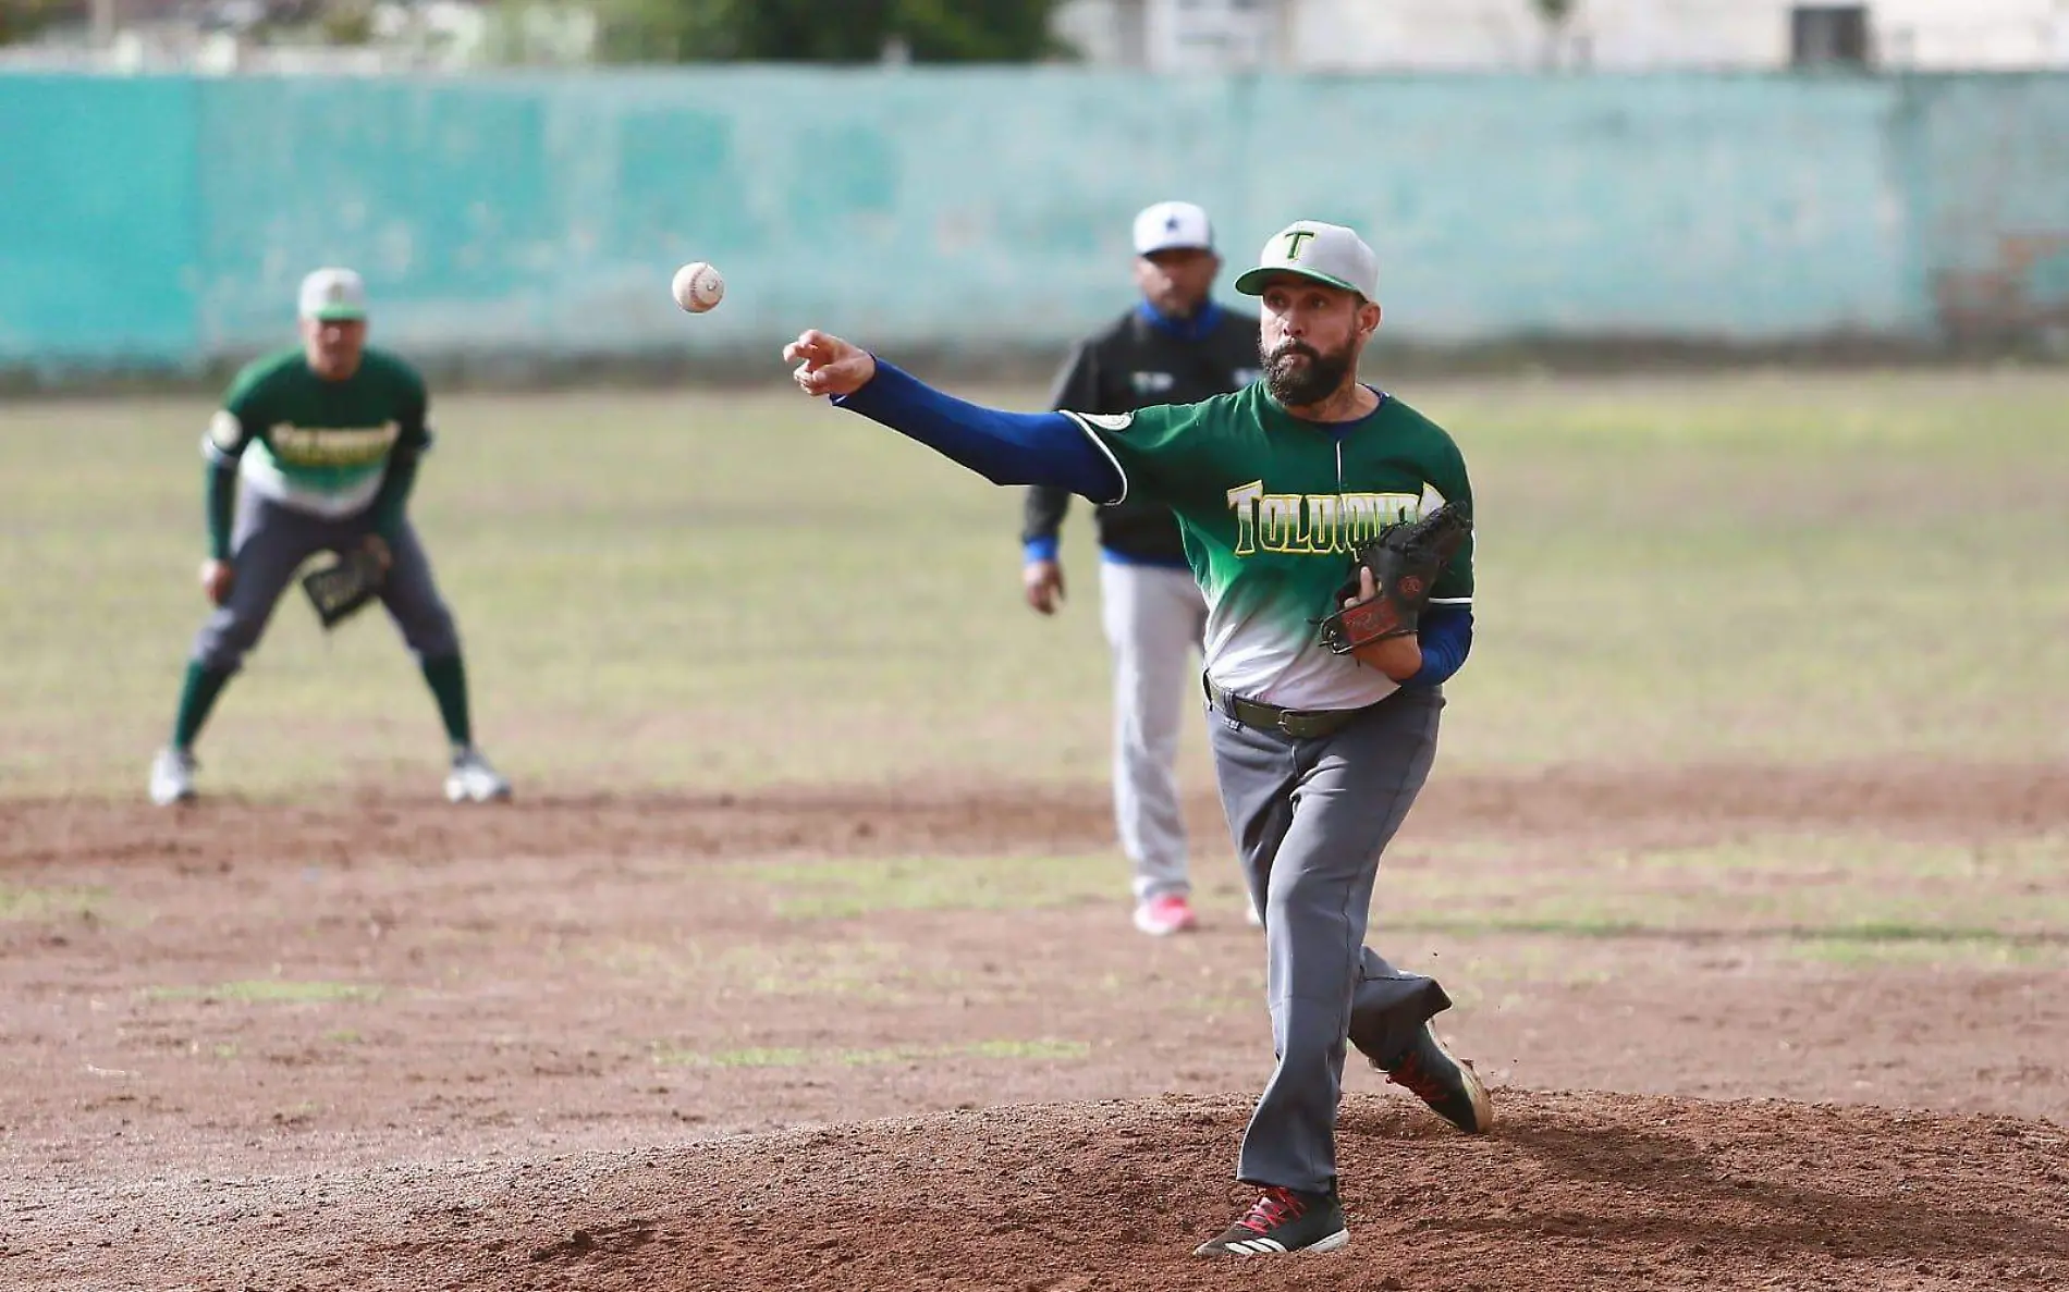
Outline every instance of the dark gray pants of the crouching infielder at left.
{"type": "MultiPolygon", "coordinates": [[[[230,564],[236,577],[230,583],[230,597],[194,635],[194,659],[211,670],[234,672],[244,653],[259,645],[273,616],[273,604],[302,562],[319,552],[358,546],[370,531],[372,517],[366,513],[333,521],[240,490],[238,519],[230,535],[230,564]]],[[[389,554],[393,564],[381,585],[381,604],[418,659],[451,659],[459,653],[453,612],[445,608],[430,577],[430,560],[408,521],[389,544],[389,554]]]]}

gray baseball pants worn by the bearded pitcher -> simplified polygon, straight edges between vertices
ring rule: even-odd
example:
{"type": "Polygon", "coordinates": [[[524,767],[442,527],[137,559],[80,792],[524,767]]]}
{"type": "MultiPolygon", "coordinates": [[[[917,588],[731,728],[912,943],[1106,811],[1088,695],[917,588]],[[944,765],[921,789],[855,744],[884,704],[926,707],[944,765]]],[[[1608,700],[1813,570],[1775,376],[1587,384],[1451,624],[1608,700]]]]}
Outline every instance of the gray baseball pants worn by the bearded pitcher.
{"type": "Polygon", "coordinates": [[[1324,1191],[1337,1180],[1337,1096],[1351,1013],[1390,1060],[1450,1001],[1370,949],[1380,852],[1436,761],[1438,690],[1397,690],[1332,736],[1295,740],[1208,709],[1229,833],[1264,912],[1279,1067],[1243,1133],[1237,1176],[1324,1191]]]}

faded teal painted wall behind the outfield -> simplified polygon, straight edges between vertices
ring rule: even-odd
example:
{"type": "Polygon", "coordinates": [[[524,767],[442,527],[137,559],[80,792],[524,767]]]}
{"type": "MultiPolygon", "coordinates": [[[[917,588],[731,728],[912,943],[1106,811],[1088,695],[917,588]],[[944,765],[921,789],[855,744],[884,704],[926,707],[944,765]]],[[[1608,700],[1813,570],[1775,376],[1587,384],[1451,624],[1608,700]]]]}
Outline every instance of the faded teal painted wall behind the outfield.
{"type": "Polygon", "coordinates": [[[0,364],[250,353],[323,263],[426,353],[1061,345],[1165,196],[1361,227],[1434,345],[2069,327],[2069,76],[0,76],[0,364]]]}

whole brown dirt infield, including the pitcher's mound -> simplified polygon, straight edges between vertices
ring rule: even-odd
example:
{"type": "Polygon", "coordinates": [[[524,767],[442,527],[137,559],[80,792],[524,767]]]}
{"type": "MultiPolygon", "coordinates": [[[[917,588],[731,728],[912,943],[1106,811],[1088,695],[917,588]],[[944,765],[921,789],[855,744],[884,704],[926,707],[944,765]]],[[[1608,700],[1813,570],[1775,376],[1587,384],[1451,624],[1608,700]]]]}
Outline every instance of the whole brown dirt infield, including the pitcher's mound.
{"type": "MultiPolygon", "coordinates": [[[[1713,767],[1440,777],[1401,848],[2065,827],[2059,769],[1713,767]]],[[[1502,1125],[1353,1071],[1353,1249],[1227,1271],[1186,1251],[1270,1054],[1225,860],[1163,943],[778,903],[797,858],[1107,850],[1099,790],[0,800],[0,839],[6,1288],[2069,1288],[2055,961],[1415,934],[1508,965],[1440,1019],[1502,1125]]]]}

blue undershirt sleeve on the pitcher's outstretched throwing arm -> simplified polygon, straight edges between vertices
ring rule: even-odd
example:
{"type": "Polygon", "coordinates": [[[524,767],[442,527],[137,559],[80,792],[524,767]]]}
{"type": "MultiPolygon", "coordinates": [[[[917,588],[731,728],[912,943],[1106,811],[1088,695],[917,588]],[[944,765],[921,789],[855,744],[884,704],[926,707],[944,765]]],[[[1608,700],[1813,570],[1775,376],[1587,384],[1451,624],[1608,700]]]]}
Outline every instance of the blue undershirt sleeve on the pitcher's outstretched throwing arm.
{"type": "Polygon", "coordinates": [[[1128,480],[1082,424],[1066,413],[1008,413],[943,395],[877,360],[877,374],[834,403],[881,422],[962,463],[991,484],[1051,484],[1092,502],[1119,502],[1128,480]]]}

